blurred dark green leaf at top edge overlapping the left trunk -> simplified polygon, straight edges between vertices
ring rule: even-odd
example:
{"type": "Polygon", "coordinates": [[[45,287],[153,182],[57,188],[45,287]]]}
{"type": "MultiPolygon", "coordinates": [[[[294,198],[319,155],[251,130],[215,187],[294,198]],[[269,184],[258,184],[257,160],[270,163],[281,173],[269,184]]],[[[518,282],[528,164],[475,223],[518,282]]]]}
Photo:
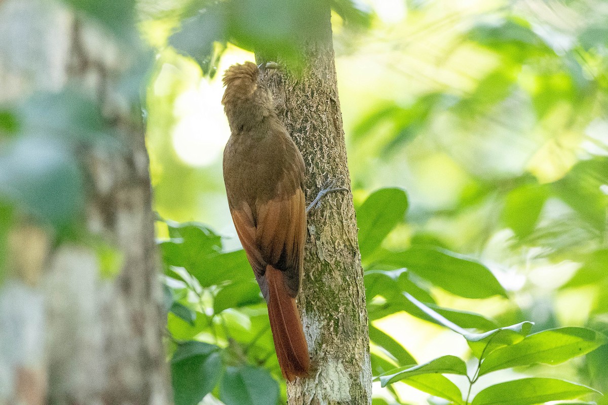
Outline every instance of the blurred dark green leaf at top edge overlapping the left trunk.
{"type": "Polygon", "coordinates": [[[137,38],[135,30],[135,0],[63,0],[75,10],[83,12],[108,28],[121,41],[134,41],[137,38]]]}

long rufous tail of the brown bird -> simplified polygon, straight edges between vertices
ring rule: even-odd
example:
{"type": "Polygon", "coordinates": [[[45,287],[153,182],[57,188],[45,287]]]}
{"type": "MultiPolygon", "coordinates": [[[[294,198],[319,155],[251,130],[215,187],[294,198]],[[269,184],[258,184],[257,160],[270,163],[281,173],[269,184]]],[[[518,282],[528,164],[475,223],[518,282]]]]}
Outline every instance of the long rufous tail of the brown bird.
{"type": "Polygon", "coordinates": [[[308,375],[310,358],[308,344],[304,337],[302,321],[295,299],[289,296],[282,271],[271,265],[266,266],[268,281],[268,317],[272,329],[272,339],[277,350],[278,365],[283,377],[294,381],[295,377],[308,375]]]}

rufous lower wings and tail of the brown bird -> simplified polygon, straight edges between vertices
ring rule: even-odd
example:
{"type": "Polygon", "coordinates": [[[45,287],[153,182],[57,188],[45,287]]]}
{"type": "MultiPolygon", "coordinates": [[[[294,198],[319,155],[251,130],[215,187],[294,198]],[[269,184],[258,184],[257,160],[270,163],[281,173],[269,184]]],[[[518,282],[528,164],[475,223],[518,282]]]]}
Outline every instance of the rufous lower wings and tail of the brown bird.
{"type": "Polygon", "coordinates": [[[304,194],[298,188],[288,199],[268,200],[254,209],[255,222],[252,209],[245,204],[231,208],[232,219],[268,303],[278,364],[285,379],[293,381],[305,376],[310,366],[295,304],[303,267],[304,194]]]}

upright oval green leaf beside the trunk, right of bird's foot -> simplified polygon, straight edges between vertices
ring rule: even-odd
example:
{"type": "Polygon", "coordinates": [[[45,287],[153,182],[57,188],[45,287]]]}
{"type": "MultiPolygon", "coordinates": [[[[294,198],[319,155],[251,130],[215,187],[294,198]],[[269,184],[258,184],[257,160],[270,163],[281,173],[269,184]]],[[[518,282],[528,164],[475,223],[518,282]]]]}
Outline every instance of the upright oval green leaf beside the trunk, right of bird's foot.
{"type": "Polygon", "coordinates": [[[382,188],[373,192],[357,210],[359,249],[365,259],[382,240],[404,220],[407,194],[399,188],[382,188]]]}

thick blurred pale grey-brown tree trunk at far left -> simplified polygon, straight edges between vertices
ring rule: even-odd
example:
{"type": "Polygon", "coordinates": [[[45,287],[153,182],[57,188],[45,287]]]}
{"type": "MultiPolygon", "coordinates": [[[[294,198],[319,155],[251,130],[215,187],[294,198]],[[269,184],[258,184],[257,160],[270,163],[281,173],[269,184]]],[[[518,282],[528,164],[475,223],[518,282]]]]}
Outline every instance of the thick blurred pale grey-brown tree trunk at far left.
{"type": "Polygon", "coordinates": [[[108,86],[125,59],[96,27],[45,0],[0,2],[0,102],[68,82],[94,95],[119,148],[83,148],[86,230],[116,259],[102,275],[90,243],[58,245],[21,218],[0,286],[0,404],[170,401],[144,131],[108,86]]]}

